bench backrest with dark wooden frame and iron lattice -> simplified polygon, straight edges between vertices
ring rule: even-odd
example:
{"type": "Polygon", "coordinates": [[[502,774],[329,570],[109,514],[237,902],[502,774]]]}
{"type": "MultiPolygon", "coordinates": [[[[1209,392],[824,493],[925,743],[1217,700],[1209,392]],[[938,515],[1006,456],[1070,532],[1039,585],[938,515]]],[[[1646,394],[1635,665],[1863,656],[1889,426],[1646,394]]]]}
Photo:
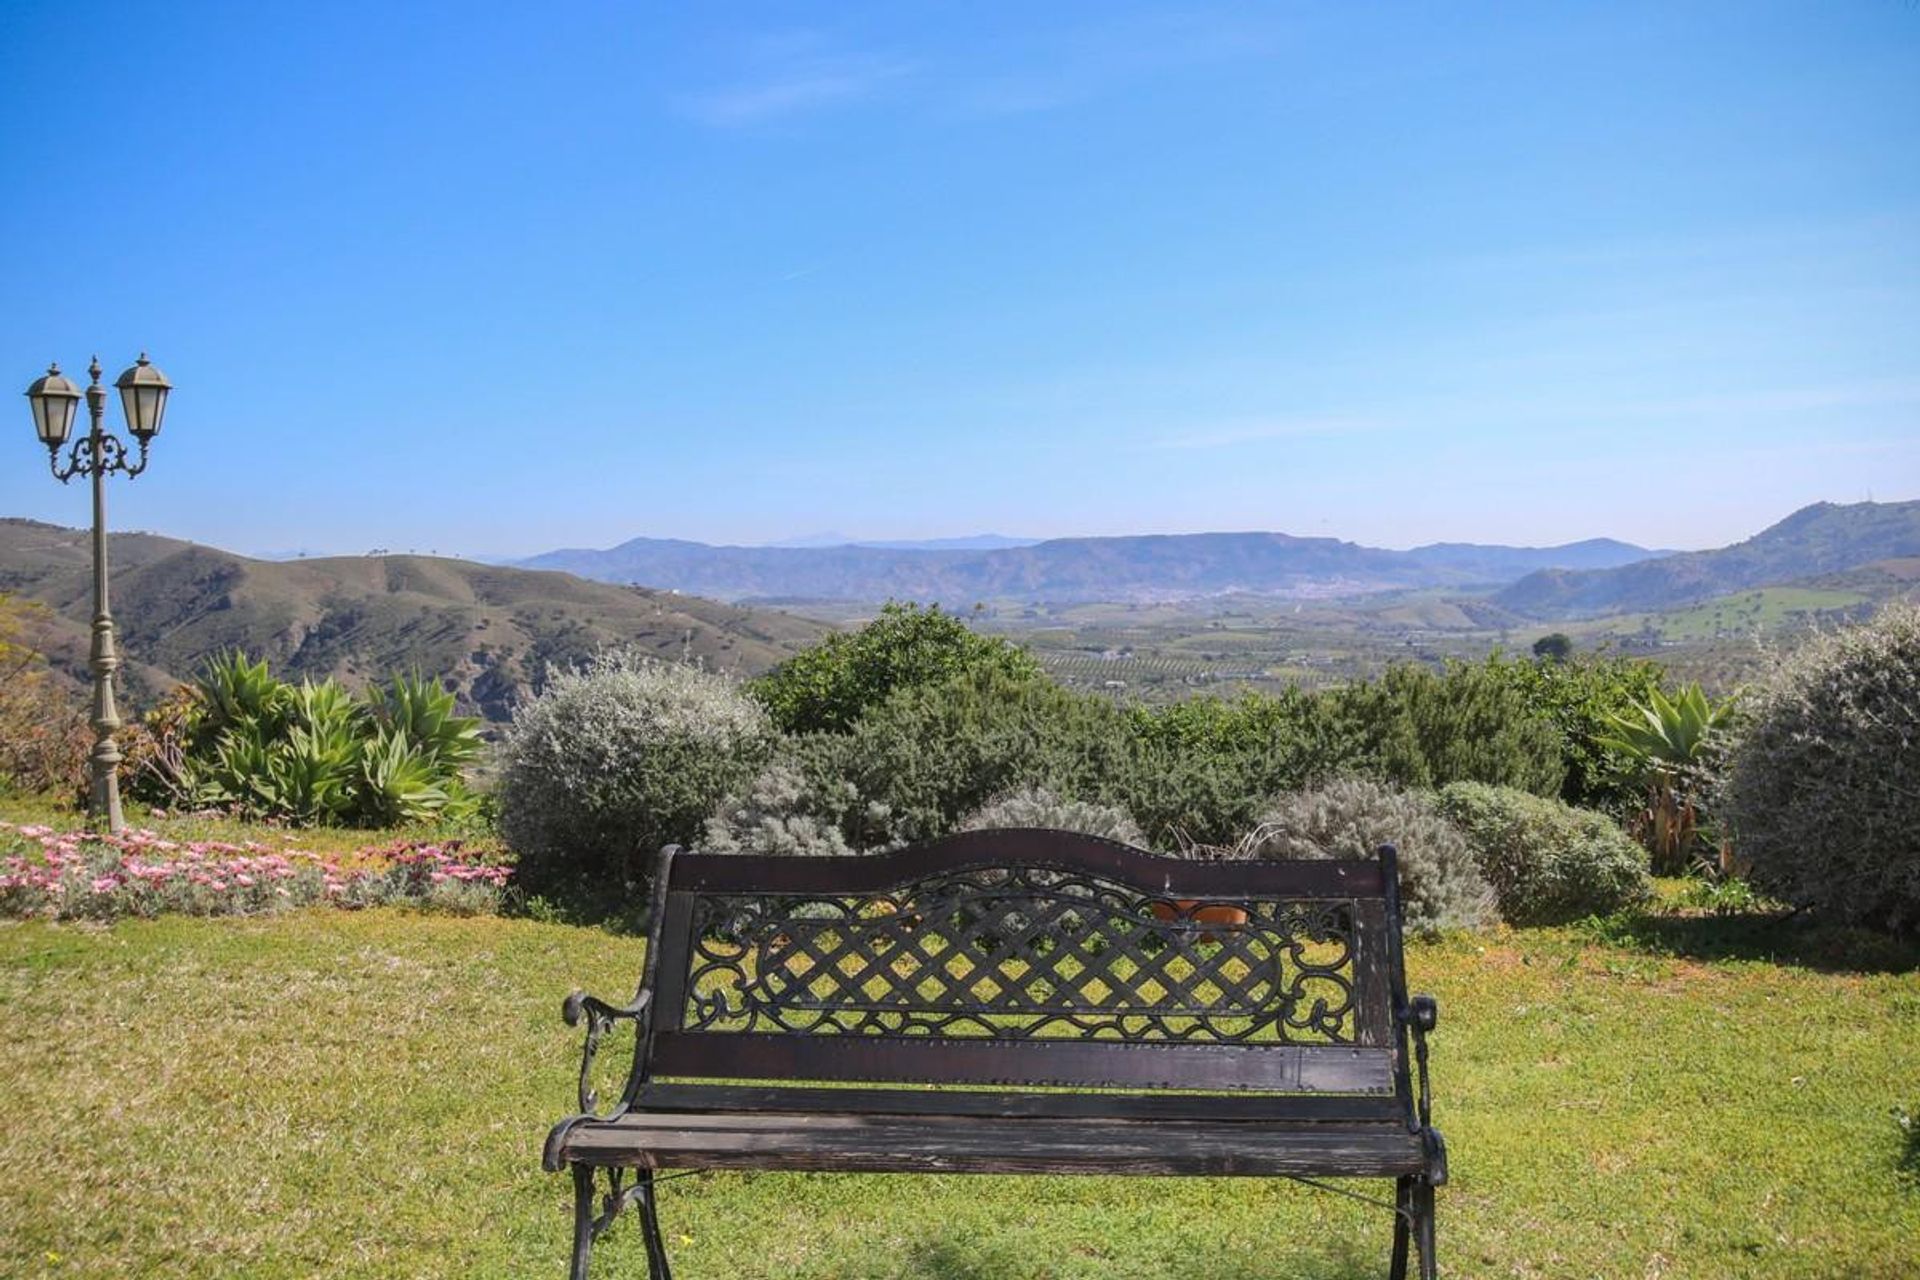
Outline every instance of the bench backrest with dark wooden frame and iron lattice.
{"type": "Polygon", "coordinates": [[[1190,862],[1020,829],[852,858],[668,850],[645,981],[636,1079],[1409,1105],[1390,848],[1190,862]]]}

